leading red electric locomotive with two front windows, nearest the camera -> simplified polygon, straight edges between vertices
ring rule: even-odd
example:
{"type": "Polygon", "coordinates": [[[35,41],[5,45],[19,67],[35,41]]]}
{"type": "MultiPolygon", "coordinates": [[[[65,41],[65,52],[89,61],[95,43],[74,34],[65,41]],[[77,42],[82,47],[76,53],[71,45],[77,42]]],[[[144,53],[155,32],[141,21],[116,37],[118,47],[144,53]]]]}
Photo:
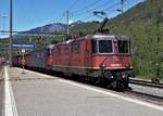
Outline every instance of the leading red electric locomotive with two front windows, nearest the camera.
{"type": "Polygon", "coordinates": [[[112,88],[128,87],[133,67],[127,36],[88,35],[53,48],[53,70],[112,88]]]}

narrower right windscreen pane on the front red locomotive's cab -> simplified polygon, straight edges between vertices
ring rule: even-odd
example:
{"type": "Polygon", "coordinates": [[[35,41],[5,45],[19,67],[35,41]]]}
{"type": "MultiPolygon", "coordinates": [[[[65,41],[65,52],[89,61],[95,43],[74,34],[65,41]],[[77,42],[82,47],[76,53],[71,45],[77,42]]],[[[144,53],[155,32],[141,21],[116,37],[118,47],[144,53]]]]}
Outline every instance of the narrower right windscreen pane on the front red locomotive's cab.
{"type": "Polygon", "coordinates": [[[118,40],[118,53],[128,53],[127,40],[118,40]]]}

